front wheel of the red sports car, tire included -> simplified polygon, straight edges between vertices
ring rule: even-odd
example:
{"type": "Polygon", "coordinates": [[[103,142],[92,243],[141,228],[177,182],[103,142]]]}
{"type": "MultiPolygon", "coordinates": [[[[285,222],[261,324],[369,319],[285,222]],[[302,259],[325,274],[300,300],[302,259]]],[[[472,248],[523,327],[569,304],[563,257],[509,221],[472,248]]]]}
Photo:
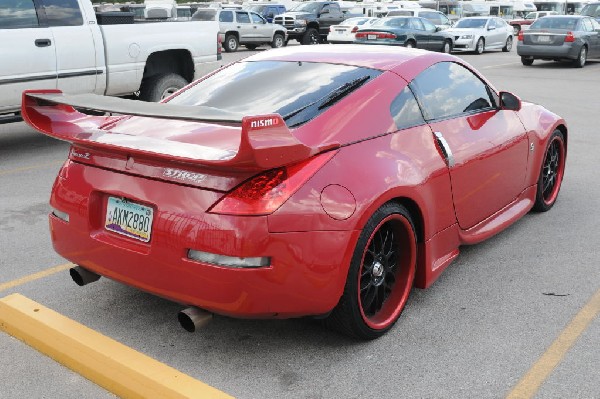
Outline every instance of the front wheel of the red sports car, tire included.
{"type": "Polygon", "coordinates": [[[558,192],[565,174],[567,146],[565,137],[560,130],[555,130],[546,145],[544,160],[540,169],[535,204],[533,210],[546,212],[556,203],[558,192]]]}

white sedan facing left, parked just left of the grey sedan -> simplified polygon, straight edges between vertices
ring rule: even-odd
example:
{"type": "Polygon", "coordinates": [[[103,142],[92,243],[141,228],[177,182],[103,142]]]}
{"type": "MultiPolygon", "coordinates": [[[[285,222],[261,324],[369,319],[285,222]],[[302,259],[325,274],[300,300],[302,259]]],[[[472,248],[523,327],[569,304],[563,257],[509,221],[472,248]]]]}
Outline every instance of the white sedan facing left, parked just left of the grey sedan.
{"type": "Polygon", "coordinates": [[[513,45],[512,26],[497,17],[461,18],[445,32],[454,36],[453,51],[481,54],[491,49],[510,51],[513,45]]]}

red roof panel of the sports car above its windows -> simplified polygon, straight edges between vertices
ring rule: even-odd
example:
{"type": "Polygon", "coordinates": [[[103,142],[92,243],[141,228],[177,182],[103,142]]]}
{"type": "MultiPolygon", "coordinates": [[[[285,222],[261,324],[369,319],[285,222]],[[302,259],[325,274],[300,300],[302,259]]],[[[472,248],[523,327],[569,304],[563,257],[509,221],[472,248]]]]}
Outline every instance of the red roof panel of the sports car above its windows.
{"type": "Polygon", "coordinates": [[[459,58],[427,50],[397,46],[345,44],[340,46],[291,46],[252,55],[244,61],[321,62],[393,71],[408,81],[424,68],[440,61],[464,64],[459,58]]]}

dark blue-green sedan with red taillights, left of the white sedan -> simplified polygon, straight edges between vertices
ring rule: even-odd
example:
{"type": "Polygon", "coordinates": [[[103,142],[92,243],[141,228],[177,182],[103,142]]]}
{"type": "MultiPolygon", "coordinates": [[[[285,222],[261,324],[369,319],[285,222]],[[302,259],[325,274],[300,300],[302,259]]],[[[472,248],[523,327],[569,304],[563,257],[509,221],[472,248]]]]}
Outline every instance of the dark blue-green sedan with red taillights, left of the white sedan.
{"type": "Polygon", "coordinates": [[[451,34],[419,17],[381,18],[368,28],[359,29],[355,37],[354,43],[416,47],[443,53],[452,51],[454,39],[451,34]]]}

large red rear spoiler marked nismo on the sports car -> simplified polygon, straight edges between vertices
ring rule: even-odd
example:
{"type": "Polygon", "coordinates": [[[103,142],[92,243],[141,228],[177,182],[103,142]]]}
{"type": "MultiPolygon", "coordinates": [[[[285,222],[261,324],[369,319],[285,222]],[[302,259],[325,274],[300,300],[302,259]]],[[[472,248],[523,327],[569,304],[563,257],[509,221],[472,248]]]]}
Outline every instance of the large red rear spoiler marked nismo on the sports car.
{"type": "Polygon", "coordinates": [[[217,169],[265,170],[302,161],[339,147],[333,143],[309,147],[301,143],[279,114],[241,116],[210,107],[148,103],[95,94],[63,94],[60,90],[26,90],[21,114],[38,131],[73,144],[129,155],[167,156],[169,160],[217,169]],[[128,135],[103,129],[114,117],[79,112],[85,109],[211,124],[241,124],[237,151],[212,148],[202,143],[128,135]]]}

